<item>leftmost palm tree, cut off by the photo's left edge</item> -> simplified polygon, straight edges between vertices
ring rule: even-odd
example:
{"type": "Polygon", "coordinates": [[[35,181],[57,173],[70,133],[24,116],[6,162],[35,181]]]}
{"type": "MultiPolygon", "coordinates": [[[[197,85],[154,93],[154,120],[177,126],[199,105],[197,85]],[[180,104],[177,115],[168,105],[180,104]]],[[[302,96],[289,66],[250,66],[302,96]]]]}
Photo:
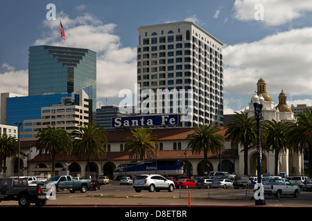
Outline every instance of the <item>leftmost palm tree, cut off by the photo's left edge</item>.
{"type": "Polygon", "coordinates": [[[6,134],[0,136],[0,159],[3,160],[3,173],[6,173],[6,157],[14,157],[18,152],[19,148],[15,137],[6,134]]]}

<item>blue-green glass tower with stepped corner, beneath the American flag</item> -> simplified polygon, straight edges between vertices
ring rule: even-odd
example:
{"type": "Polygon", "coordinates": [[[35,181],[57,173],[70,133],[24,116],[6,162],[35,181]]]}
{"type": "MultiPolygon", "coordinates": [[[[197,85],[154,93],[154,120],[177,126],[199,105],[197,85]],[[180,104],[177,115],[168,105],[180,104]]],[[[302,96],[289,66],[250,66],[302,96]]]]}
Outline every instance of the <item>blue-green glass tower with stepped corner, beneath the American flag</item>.
{"type": "Polygon", "coordinates": [[[85,48],[31,46],[28,55],[28,96],[73,93],[92,86],[96,111],[96,52],[85,48]]]}

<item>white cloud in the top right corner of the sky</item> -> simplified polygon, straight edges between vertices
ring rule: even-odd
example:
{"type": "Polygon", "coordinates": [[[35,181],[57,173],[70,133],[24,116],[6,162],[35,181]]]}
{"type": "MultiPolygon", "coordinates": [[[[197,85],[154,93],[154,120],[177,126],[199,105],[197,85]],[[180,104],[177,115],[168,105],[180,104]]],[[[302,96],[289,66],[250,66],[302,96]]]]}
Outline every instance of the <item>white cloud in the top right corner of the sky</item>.
{"type": "Polygon", "coordinates": [[[263,6],[263,23],[268,26],[279,26],[312,11],[311,0],[236,0],[234,2],[234,18],[241,21],[255,21],[254,14],[263,6]],[[259,5],[258,5],[259,6],[259,5]]]}

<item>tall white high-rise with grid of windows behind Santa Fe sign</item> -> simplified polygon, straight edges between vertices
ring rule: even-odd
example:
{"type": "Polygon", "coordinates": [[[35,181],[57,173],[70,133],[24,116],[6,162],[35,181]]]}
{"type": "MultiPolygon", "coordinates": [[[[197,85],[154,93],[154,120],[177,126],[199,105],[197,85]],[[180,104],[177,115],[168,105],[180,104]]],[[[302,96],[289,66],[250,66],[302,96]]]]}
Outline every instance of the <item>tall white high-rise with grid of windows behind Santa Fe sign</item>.
{"type": "MultiPolygon", "coordinates": [[[[162,102],[155,113],[176,113],[176,105],[191,106],[181,126],[223,125],[223,43],[196,23],[181,21],[141,26],[137,46],[137,82],[140,91],[189,91],[186,99],[162,102]],[[183,102],[183,103],[182,103],[183,102]],[[168,105],[169,108],[159,108],[168,105]]],[[[141,98],[144,100],[146,98],[141,98]]],[[[167,106],[167,107],[168,107],[167,106]]],[[[149,113],[150,114],[150,113],[149,113]]]]}

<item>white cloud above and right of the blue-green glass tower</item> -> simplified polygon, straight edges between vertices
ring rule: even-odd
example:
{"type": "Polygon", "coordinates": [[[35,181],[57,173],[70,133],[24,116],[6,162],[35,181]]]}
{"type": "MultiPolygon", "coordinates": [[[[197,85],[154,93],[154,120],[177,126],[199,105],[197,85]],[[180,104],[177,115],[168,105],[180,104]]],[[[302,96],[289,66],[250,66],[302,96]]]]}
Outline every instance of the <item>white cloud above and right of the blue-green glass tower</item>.
{"type": "MultiPolygon", "coordinates": [[[[116,24],[104,24],[90,14],[69,18],[60,12],[66,41],[61,46],[88,48],[96,51],[97,99],[118,97],[119,90],[132,90],[137,82],[137,49],[123,47],[120,37],[114,34],[116,24]]],[[[49,44],[59,46],[60,21],[44,21],[49,31],[35,45],[49,44]]]]}

